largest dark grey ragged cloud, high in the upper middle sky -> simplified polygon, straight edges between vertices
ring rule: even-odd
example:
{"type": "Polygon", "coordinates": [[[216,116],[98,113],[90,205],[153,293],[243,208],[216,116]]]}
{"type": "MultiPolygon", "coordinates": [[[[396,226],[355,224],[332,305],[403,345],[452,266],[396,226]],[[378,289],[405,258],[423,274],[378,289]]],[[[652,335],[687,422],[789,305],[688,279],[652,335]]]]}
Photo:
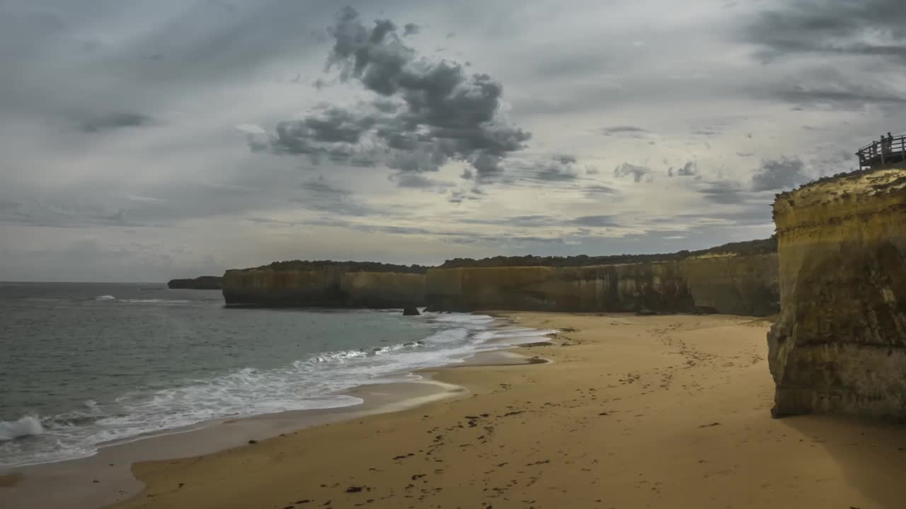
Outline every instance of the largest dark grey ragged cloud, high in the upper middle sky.
{"type": "Polygon", "coordinates": [[[458,62],[431,62],[402,43],[397,26],[369,28],[347,7],[329,29],[328,70],[376,93],[371,105],[323,106],[301,120],[277,125],[276,152],[312,154],[343,144],[352,158],[366,137],[389,149],[385,160],[402,172],[437,170],[449,159],[471,164],[477,178],[502,171],[501,160],[531,135],[499,115],[503,87],[487,74],[469,74],[458,62]]]}

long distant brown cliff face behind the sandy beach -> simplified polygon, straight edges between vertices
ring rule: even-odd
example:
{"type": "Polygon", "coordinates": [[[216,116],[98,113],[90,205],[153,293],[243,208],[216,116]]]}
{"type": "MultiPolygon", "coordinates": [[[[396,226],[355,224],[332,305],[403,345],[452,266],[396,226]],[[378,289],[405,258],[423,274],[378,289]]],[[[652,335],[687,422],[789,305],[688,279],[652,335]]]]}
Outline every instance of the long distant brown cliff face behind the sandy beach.
{"type": "Polygon", "coordinates": [[[591,266],[439,267],[428,271],[437,311],[477,309],[627,312],[777,311],[777,259],[708,255],[668,262],[591,266]]]}

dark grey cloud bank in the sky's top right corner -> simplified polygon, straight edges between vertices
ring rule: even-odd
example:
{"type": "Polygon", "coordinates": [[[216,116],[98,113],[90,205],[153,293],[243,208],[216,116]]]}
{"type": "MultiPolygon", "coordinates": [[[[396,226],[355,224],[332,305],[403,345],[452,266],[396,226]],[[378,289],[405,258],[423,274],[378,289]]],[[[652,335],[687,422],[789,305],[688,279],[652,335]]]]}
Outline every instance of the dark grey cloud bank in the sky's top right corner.
{"type": "Polygon", "coordinates": [[[745,32],[764,58],[796,53],[890,57],[906,63],[901,0],[802,0],[760,14],[745,32]]]}

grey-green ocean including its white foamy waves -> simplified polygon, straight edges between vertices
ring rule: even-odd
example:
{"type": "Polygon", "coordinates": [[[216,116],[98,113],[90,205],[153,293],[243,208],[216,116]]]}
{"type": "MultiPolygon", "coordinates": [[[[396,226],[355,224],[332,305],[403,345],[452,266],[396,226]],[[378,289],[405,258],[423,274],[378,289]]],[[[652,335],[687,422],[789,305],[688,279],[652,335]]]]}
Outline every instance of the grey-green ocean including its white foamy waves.
{"type": "Polygon", "coordinates": [[[490,316],[226,308],[219,292],[0,283],[0,467],[218,418],[361,404],[343,395],[550,331],[490,316]]]}

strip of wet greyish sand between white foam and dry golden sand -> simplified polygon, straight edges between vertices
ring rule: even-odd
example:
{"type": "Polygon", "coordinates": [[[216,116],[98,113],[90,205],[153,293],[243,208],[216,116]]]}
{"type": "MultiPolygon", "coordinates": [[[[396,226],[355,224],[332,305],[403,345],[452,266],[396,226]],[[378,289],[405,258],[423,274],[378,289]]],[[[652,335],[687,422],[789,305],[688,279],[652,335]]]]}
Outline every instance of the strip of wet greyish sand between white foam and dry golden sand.
{"type": "MultiPolygon", "coordinates": [[[[513,324],[506,322],[504,326],[513,324]]],[[[487,341],[488,344],[495,342],[499,341],[487,341]]],[[[92,456],[3,468],[0,469],[0,503],[12,506],[38,504],[48,509],[107,507],[139,494],[146,487],[132,474],[132,466],[137,463],[209,455],[254,445],[261,440],[286,437],[308,427],[398,412],[467,394],[465,387],[433,379],[438,370],[445,368],[545,362],[513,353],[514,348],[517,347],[500,342],[496,350],[478,351],[459,362],[389,374],[374,383],[337,393],[361,399],[361,403],[354,405],[217,418],[102,443],[92,456]],[[54,489],[49,492],[47,485],[53,485],[54,489]],[[98,490],[99,485],[108,487],[98,490]]]]}

